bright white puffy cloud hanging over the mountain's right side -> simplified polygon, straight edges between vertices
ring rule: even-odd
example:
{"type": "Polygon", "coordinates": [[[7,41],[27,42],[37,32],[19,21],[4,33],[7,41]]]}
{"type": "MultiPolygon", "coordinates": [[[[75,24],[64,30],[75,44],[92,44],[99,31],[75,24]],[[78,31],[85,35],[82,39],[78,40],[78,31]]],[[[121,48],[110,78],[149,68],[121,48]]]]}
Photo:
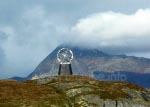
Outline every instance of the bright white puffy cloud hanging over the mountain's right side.
{"type": "MultiPolygon", "coordinates": [[[[150,50],[150,9],[133,14],[104,12],[82,18],[72,27],[74,45],[100,47],[119,52],[150,50]]],[[[71,37],[72,38],[72,37],[71,37]]],[[[71,41],[70,38],[70,41],[71,41]]]]}

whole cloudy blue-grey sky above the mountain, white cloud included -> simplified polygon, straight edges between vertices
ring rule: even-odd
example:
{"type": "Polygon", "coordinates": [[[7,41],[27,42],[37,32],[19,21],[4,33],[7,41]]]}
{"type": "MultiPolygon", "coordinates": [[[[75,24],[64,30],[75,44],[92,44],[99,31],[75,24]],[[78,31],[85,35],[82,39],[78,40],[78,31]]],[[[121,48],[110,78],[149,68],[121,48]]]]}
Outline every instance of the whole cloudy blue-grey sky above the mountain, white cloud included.
{"type": "Polygon", "coordinates": [[[27,76],[58,45],[150,58],[150,0],[0,0],[0,78],[27,76]]]}

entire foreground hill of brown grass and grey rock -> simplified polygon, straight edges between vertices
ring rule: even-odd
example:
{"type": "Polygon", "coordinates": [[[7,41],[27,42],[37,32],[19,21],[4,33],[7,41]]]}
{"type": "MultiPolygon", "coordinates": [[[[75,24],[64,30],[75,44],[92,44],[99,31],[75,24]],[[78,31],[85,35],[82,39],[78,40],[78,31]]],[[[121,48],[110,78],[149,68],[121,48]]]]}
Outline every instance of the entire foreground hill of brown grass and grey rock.
{"type": "Polygon", "coordinates": [[[150,107],[150,91],[75,75],[1,80],[0,107],[150,107]]]}

